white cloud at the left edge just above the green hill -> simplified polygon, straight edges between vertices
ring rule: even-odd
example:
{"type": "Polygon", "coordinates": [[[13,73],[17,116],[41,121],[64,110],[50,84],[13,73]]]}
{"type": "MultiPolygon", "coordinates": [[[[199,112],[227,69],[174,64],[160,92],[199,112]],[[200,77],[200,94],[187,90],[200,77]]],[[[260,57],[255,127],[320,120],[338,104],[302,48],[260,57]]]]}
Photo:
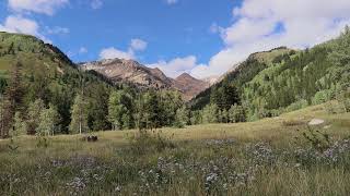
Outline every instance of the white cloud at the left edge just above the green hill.
{"type": "Polygon", "coordinates": [[[19,15],[9,15],[4,24],[0,24],[0,30],[33,35],[46,42],[51,42],[39,33],[39,25],[35,21],[19,15]]]}

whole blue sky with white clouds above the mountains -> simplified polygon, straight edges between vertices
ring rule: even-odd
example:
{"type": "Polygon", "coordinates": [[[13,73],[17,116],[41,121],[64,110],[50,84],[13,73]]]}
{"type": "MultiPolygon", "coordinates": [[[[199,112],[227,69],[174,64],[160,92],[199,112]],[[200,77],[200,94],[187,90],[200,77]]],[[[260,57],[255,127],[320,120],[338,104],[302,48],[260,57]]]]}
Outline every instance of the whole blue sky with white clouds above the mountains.
{"type": "Polygon", "coordinates": [[[0,30],[74,62],[133,59],[176,77],[225,73],[248,54],[304,49],[350,24],[349,0],[0,0],[0,30]]]}

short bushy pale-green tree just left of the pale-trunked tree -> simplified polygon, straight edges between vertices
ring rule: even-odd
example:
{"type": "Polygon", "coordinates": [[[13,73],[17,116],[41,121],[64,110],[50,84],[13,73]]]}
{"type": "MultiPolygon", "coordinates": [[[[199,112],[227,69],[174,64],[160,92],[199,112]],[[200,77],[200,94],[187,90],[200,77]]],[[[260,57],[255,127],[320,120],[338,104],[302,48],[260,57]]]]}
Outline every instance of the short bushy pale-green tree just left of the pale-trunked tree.
{"type": "Polygon", "coordinates": [[[49,108],[44,109],[39,115],[39,124],[36,128],[36,133],[42,136],[55,135],[56,125],[59,122],[59,113],[54,105],[49,105],[49,108]]]}

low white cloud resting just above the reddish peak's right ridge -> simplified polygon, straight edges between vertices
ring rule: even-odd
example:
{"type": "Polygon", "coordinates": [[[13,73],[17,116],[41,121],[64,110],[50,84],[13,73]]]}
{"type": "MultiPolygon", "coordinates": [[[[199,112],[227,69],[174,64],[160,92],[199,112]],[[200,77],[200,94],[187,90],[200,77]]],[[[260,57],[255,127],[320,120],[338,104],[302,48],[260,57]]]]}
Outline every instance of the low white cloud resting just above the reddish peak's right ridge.
{"type": "Polygon", "coordinates": [[[184,72],[190,73],[192,69],[202,65],[197,64],[197,58],[195,56],[188,56],[185,58],[176,58],[168,62],[162,60],[158,63],[148,64],[148,66],[159,68],[167,76],[175,78],[184,72]]]}

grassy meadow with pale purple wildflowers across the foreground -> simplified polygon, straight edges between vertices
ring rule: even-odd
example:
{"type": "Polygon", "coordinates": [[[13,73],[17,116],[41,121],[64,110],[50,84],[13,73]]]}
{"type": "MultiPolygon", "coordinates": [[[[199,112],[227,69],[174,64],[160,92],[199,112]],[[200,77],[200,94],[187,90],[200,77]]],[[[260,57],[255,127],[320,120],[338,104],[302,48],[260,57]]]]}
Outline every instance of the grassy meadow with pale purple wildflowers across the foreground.
{"type": "Polygon", "coordinates": [[[350,113],[0,140],[0,195],[349,195],[350,113]],[[307,126],[313,119],[325,123],[307,126]]]}

